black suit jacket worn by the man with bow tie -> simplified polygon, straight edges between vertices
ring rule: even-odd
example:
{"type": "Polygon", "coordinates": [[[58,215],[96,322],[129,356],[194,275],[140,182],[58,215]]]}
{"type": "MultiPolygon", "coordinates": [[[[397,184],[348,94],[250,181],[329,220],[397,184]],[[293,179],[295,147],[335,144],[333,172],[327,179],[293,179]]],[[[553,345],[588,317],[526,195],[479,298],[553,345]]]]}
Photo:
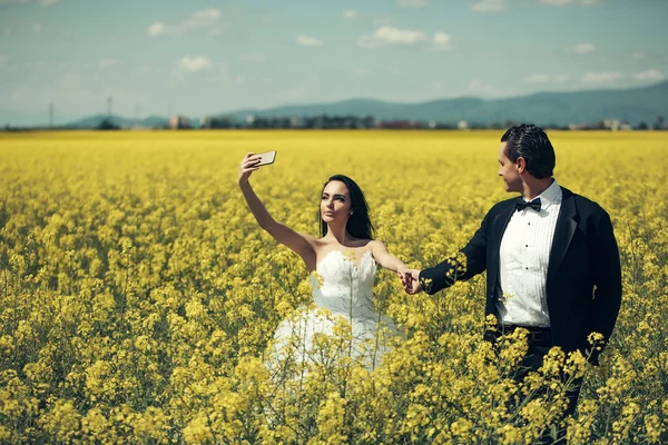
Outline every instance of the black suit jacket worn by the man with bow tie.
{"type": "MultiPolygon", "coordinates": [[[[596,332],[610,338],[621,305],[619,250],[610,217],[598,204],[561,188],[562,201],[548,264],[546,291],[556,346],[566,352],[590,349],[596,332]]],[[[428,294],[487,270],[485,314],[497,313],[501,238],[521,198],[494,205],[473,238],[461,250],[466,264],[450,258],[422,270],[428,294]]],[[[592,354],[598,362],[598,353],[592,354]]]]}

